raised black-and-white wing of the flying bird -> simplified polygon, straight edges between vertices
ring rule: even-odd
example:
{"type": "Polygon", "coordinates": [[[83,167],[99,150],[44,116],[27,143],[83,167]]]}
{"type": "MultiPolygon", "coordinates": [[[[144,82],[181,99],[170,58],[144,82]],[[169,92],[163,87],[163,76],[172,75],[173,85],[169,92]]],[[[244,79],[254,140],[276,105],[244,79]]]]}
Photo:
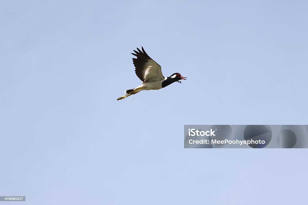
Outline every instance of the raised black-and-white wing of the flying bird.
{"type": "Polygon", "coordinates": [[[137,57],[133,58],[136,75],[143,82],[164,80],[160,65],[145,53],[143,47],[141,47],[141,49],[142,51],[137,48],[138,51],[134,50],[136,54],[132,53],[137,57]]]}

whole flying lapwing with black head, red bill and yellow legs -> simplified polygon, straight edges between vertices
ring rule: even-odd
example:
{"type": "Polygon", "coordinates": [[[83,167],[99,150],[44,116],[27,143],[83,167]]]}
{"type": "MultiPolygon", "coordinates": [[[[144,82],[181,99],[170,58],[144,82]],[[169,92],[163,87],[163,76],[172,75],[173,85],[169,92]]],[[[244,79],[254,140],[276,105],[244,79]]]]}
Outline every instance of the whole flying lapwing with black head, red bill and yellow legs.
{"type": "Polygon", "coordinates": [[[133,58],[133,64],[135,65],[135,72],[139,79],[142,81],[142,85],[130,90],[125,91],[125,95],[117,99],[122,100],[128,96],[139,93],[142,90],[159,90],[171,83],[179,82],[180,80],[186,80],[180,73],[173,73],[170,77],[164,77],[161,72],[161,67],[152,58],[145,53],[143,47],[142,51],[137,48],[132,53],[137,58],[133,58]]]}

